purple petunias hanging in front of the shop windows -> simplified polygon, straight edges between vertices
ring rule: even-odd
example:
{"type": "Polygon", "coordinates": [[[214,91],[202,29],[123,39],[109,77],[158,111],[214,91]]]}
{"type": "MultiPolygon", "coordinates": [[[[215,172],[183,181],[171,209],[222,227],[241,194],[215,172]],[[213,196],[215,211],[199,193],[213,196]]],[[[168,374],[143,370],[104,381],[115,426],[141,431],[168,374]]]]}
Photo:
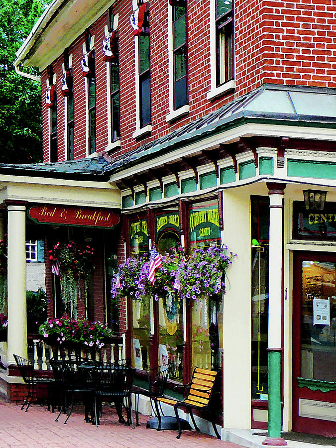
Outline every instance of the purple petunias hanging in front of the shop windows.
{"type": "Polygon", "coordinates": [[[161,256],[162,266],[156,269],[154,283],[148,280],[148,254],[127,258],[112,277],[112,297],[141,299],[151,295],[158,300],[179,292],[179,299],[221,298],[225,293],[225,272],[235,256],[227,253],[226,246],[194,249],[189,256],[181,247],[171,249],[170,254],[161,256]]]}

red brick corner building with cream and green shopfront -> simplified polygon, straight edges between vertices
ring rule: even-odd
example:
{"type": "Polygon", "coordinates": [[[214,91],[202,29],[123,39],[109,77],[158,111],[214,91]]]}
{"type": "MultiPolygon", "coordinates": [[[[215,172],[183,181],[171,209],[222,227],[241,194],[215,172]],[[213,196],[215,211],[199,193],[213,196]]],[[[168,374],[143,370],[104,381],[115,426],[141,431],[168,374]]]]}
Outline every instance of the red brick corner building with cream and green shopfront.
{"type": "MultiPolygon", "coordinates": [[[[115,265],[109,272],[106,260],[115,255],[121,262],[172,241],[187,253],[213,243],[237,252],[224,300],[185,301],[176,317],[179,347],[168,348],[171,386],[196,365],[223,368],[223,437],[225,428],[267,422],[271,442],[281,443],[281,422],[285,430],[335,435],[336,378],[328,372],[335,371],[336,294],[326,292],[336,280],[335,10],[331,0],[58,0],[17,53],[19,71],[32,65],[41,73],[45,164],[25,166],[24,174],[3,166],[4,182],[50,178],[53,192],[40,199],[44,180],[27,194],[22,187],[28,204],[121,212],[113,233],[43,228],[48,247],[58,236],[97,246],[91,302],[79,301],[79,314],[111,320],[115,265]],[[327,192],[324,210],[305,206],[307,190],[307,199],[327,192]],[[193,226],[204,211],[217,222],[193,226]],[[309,266],[319,272],[314,287],[309,266]],[[309,291],[301,288],[307,282],[309,291]],[[316,324],[317,300],[326,301],[329,325],[316,324]],[[203,345],[194,325],[208,334],[203,345]]],[[[4,201],[17,201],[8,191],[4,201]]],[[[153,299],[118,305],[125,352],[140,376],[169,345],[162,307],[153,299]]]]}

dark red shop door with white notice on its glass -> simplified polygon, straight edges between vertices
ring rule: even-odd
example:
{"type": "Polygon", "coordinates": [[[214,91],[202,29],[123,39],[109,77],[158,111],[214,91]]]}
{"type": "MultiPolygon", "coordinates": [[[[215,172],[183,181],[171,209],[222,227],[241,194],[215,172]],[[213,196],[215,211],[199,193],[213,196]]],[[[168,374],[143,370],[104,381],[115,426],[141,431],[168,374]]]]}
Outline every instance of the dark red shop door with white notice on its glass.
{"type": "Polygon", "coordinates": [[[336,253],[296,253],[293,285],[293,431],[336,436],[336,253]]]}

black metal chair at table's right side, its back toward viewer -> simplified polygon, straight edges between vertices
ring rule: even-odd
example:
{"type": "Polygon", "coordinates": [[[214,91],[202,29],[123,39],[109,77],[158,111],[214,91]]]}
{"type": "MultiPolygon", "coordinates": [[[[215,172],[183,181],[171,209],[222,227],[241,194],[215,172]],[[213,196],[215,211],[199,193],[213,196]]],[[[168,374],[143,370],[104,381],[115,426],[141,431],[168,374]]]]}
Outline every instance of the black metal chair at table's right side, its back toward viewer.
{"type": "MultiPolygon", "coordinates": [[[[112,363],[98,366],[94,370],[95,374],[95,421],[96,426],[100,424],[99,414],[102,408],[103,398],[110,399],[114,403],[119,423],[129,425],[132,420],[132,383],[134,369],[125,363],[112,363]],[[122,406],[126,409],[127,422],[122,417],[122,406]]],[[[133,425],[134,426],[134,425],[133,425]]]]}

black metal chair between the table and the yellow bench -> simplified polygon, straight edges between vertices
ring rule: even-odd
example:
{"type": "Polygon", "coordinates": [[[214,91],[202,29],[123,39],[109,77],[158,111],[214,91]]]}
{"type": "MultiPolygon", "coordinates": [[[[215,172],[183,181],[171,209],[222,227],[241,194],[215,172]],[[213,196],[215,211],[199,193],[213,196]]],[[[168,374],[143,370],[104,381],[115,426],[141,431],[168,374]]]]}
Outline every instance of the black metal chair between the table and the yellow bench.
{"type": "Polygon", "coordinates": [[[163,364],[159,367],[154,367],[153,369],[147,369],[146,373],[148,377],[148,390],[138,387],[132,388],[132,393],[134,393],[135,396],[136,426],[139,426],[139,396],[143,395],[145,397],[149,397],[150,405],[152,407],[154,415],[158,419],[158,431],[161,429],[161,415],[158,408],[157,398],[163,397],[165,394],[170,369],[170,364],[163,364]],[[153,406],[153,402],[155,405],[155,409],[153,406]]]}

